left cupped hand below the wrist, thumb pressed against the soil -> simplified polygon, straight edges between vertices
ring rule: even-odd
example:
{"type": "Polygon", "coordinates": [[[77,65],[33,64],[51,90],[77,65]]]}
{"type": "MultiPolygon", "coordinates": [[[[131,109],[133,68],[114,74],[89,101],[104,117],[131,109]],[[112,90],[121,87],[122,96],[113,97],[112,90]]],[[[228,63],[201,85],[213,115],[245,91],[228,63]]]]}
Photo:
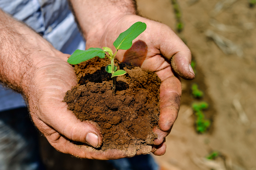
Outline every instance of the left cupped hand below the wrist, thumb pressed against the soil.
{"type": "MultiPolygon", "coordinates": [[[[40,57],[45,53],[41,51],[40,57]]],[[[76,83],[74,69],[66,60],[69,55],[54,52],[37,62],[27,98],[35,126],[58,151],[89,159],[118,159],[134,156],[136,149],[101,151],[103,137],[99,126],[78,120],[67,109],[63,98],[76,83]],[[79,145],[76,145],[79,142],[79,145]],[[93,147],[91,147],[93,146],[93,147]]]]}

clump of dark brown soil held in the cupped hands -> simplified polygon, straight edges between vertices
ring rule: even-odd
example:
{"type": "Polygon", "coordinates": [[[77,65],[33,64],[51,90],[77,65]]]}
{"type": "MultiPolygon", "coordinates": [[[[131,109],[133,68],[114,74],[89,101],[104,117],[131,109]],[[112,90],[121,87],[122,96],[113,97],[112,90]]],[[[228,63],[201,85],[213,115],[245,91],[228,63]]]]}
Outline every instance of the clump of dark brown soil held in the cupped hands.
{"type": "Polygon", "coordinates": [[[159,117],[161,80],[132,64],[116,63],[127,74],[117,77],[113,95],[111,74],[105,71],[107,64],[107,58],[95,57],[75,65],[78,85],[66,92],[68,109],[81,121],[92,120],[100,126],[102,150],[152,145],[157,138],[152,130],[159,117]]]}

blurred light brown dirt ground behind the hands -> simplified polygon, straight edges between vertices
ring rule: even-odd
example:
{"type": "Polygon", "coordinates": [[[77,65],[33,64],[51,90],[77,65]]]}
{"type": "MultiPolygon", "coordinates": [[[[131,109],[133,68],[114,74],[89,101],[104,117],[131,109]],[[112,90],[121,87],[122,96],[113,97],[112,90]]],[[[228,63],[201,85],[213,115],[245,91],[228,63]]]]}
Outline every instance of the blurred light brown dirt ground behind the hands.
{"type": "MultiPolygon", "coordinates": [[[[256,170],[256,6],[250,8],[247,0],[177,1],[184,30],[176,33],[196,61],[200,76],[193,81],[205,93],[202,100],[210,103],[205,114],[211,113],[213,122],[208,133],[196,133],[191,102],[184,102],[191,97],[190,83],[182,81],[185,93],[178,119],[166,138],[167,151],[154,158],[163,170],[256,170]],[[222,156],[204,159],[213,150],[222,156]]],[[[137,3],[142,15],[176,29],[171,0],[137,3]]],[[[47,148],[45,139],[41,144],[47,148]]],[[[42,155],[48,169],[56,164],[53,156],[73,161],[76,169],[84,169],[82,164],[88,169],[112,169],[107,162],[78,160],[48,150],[51,154],[42,155]]]]}

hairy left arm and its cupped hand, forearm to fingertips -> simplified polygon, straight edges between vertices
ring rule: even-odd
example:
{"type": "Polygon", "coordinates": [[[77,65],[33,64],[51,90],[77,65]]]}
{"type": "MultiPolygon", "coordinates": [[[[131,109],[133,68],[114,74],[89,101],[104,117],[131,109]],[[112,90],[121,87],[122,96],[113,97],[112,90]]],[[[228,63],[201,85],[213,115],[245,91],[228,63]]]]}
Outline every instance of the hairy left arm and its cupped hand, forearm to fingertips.
{"type": "Polygon", "coordinates": [[[63,98],[77,84],[75,71],[67,63],[69,55],[54,49],[38,33],[1,10],[0,30],[0,80],[23,93],[35,126],[56,150],[89,159],[135,155],[136,149],[95,149],[103,143],[99,126],[81,122],[67,109],[63,98]]]}

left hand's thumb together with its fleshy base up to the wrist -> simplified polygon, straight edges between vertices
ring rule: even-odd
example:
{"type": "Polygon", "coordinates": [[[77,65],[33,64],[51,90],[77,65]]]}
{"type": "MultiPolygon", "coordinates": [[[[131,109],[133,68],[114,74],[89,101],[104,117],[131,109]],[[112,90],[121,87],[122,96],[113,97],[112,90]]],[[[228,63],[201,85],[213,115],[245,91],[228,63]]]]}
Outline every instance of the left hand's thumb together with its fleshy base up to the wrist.
{"type": "Polygon", "coordinates": [[[41,81],[37,82],[40,96],[35,103],[36,117],[70,140],[100,147],[103,137],[99,126],[89,121],[81,122],[63,102],[66,91],[76,85],[76,75],[70,65],[43,67],[37,78],[41,81]]]}

